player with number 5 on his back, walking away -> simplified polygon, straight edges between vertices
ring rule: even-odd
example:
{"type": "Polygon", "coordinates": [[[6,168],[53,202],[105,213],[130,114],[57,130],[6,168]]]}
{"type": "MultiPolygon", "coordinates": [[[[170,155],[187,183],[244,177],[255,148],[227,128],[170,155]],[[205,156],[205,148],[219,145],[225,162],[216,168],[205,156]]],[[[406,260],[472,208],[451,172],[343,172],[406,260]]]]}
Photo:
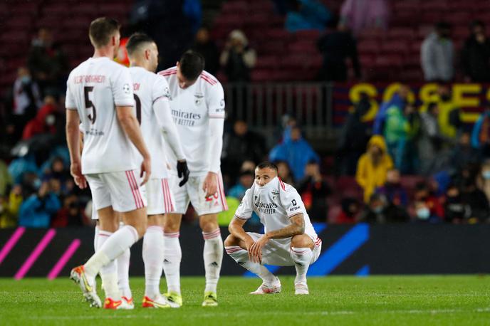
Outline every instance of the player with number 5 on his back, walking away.
{"type": "Polygon", "coordinates": [[[98,251],[85,265],[73,268],[71,278],[91,306],[101,307],[94,286],[100,272],[107,309],[130,308],[120,298],[114,260],[146,231],[142,184],[151,174],[150,153],[133,113],[135,99],[129,69],[113,61],[120,42],[119,28],[114,19],[99,18],[90,23],[94,55],[72,70],[66,90],[71,174],[80,188],[90,184],[99,233],[103,235],[97,241],[98,251]],[[84,134],[81,157],[80,121],[84,134]],[[114,211],[123,216],[123,228],[119,228],[114,211]]]}

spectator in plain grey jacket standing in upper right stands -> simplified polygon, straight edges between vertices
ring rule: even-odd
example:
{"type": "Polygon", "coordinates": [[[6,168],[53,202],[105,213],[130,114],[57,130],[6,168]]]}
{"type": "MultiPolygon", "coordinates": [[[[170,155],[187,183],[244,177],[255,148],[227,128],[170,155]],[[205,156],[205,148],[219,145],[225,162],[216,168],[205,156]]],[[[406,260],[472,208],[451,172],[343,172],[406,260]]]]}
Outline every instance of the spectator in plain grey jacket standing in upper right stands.
{"type": "Polygon", "coordinates": [[[440,22],[424,39],[420,58],[426,81],[449,82],[454,78],[454,44],[450,34],[451,26],[440,22]]]}

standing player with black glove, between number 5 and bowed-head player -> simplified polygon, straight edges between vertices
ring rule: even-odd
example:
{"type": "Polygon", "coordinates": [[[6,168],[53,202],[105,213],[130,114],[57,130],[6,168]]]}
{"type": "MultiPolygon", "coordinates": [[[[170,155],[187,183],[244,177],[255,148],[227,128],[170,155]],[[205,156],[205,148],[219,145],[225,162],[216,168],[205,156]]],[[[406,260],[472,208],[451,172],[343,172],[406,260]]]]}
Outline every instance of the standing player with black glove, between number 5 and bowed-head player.
{"type": "Polygon", "coordinates": [[[140,121],[143,138],[152,153],[152,176],[146,186],[148,199],[148,228],[143,237],[143,262],[145,263],[145,298],[143,307],[170,307],[160,295],[164,238],[164,214],[174,209],[164,152],[164,135],[174,157],[177,157],[179,186],[189,178],[182,145],[170,113],[169,85],[161,75],[155,74],[158,65],[158,48],[155,41],[142,33],[133,34],[126,43],[130,58],[130,73],[135,93],[136,116],[140,121]]]}

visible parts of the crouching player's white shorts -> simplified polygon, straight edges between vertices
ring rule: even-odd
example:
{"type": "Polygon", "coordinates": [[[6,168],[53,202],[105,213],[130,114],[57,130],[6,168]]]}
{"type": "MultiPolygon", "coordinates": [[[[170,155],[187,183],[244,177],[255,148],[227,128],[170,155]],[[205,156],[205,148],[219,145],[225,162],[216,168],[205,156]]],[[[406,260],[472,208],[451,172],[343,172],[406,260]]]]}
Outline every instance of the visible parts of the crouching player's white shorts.
{"type": "MultiPolygon", "coordinates": [[[[264,234],[247,232],[254,241],[259,240],[264,234]]],[[[318,257],[320,257],[321,252],[321,239],[316,238],[313,241],[315,245],[313,246],[313,258],[311,258],[311,263],[315,263],[318,257]]],[[[271,239],[269,240],[264,248],[262,248],[262,264],[275,265],[275,266],[293,266],[294,262],[291,259],[291,238],[284,239],[271,239]]]]}

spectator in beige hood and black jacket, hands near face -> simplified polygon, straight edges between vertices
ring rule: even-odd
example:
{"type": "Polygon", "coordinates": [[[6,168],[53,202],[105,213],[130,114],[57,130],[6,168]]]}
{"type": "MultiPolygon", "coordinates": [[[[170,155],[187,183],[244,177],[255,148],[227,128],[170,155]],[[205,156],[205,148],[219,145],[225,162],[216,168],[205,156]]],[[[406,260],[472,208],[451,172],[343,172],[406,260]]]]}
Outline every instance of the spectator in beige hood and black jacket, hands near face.
{"type": "Polygon", "coordinates": [[[249,47],[244,32],[238,29],[231,31],[219,63],[229,82],[244,83],[250,80],[250,70],[255,66],[256,53],[249,47]]]}

